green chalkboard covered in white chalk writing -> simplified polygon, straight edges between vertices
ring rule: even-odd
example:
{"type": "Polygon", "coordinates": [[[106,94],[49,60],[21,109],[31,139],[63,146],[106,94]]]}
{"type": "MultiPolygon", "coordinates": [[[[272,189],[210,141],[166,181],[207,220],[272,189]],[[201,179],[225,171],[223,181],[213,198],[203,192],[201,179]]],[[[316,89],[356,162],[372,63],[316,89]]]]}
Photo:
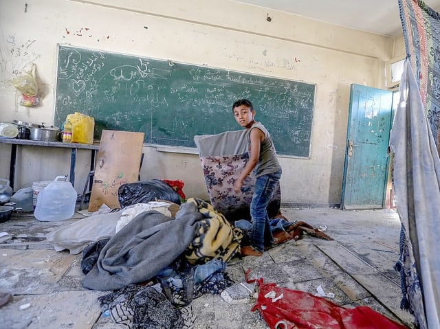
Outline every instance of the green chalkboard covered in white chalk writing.
{"type": "Polygon", "coordinates": [[[195,135],[235,131],[232,103],[248,98],[279,155],[309,157],[315,84],[169,60],[58,47],[54,124],[80,112],[145,143],[195,147],[195,135]]]}

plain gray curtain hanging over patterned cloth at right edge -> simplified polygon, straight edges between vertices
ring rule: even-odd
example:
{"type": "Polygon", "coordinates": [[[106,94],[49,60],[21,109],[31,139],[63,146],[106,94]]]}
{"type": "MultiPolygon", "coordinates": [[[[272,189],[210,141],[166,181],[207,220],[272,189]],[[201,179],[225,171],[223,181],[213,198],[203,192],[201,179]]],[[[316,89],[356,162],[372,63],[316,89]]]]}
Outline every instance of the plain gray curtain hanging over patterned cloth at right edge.
{"type": "Polygon", "coordinates": [[[440,328],[440,159],[406,60],[390,136],[393,184],[401,219],[401,306],[419,328],[440,328]]]}

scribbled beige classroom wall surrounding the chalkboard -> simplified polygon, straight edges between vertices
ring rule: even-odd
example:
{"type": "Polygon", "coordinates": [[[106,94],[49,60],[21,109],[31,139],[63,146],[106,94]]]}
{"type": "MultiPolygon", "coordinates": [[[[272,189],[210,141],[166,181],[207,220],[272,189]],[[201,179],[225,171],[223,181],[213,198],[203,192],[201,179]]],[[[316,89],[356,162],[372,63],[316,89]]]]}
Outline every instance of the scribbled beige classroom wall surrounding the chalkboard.
{"type": "MultiPolygon", "coordinates": [[[[229,0],[2,0],[0,33],[6,122],[53,123],[59,43],[316,84],[310,157],[280,157],[282,202],[311,205],[340,203],[350,86],[386,89],[385,63],[396,53],[392,38],[229,0]],[[10,84],[28,63],[41,98],[32,108],[19,105],[10,84]]],[[[155,146],[144,153],[142,179],[181,179],[186,196],[208,199],[197,154],[155,146]]],[[[9,155],[0,144],[2,178],[9,155]]],[[[68,149],[20,148],[18,157],[15,190],[69,171],[68,149]]],[[[80,150],[78,193],[88,171],[89,151],[80,150]]]]}

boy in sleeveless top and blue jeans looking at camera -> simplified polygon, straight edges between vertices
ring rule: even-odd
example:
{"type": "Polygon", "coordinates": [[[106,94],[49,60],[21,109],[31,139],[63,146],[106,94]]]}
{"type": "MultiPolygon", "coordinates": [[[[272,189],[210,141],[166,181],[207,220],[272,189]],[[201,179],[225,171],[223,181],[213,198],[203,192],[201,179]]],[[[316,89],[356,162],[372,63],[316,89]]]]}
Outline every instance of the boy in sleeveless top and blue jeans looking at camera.
{"type": "Polygon", "coordinates": [[[244,179],[254,168],[256,171],[254,194],[250,204],[251,245],[242,247],[241,254],[243,256],[261,256],[265,244],[271,245],[274,242],[266,207],[281,178],[281,166],[276,157],[272,137],[263,124],[254,121],[255,111],[252,103],[249,100],[237,100],[232,105],[232,112],[236,122],[247,130],[249,152],[249,161],[239,178],[234,182],[234,191],[239,193],[244,179]]]}

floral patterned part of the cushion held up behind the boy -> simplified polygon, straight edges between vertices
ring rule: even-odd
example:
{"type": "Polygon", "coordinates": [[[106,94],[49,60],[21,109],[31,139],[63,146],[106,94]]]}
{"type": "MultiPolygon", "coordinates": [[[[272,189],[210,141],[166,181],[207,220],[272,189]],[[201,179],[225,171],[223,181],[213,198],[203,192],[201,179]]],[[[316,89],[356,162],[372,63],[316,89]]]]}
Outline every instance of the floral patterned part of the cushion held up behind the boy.
{"type": "MultiPolygon", "coordinates": [[[[255,176],[251,173],[243,182],[241,193],[234,192],[234,181],[248,162],[248,152],[238,155],[210,155],[200,157],[210,202],[230,222],[250,219],[255,176]]],[[[278,183],[274,196],[267,206],[270,218],[276,216],[281,206],[281,190],[278,183]]]]}

